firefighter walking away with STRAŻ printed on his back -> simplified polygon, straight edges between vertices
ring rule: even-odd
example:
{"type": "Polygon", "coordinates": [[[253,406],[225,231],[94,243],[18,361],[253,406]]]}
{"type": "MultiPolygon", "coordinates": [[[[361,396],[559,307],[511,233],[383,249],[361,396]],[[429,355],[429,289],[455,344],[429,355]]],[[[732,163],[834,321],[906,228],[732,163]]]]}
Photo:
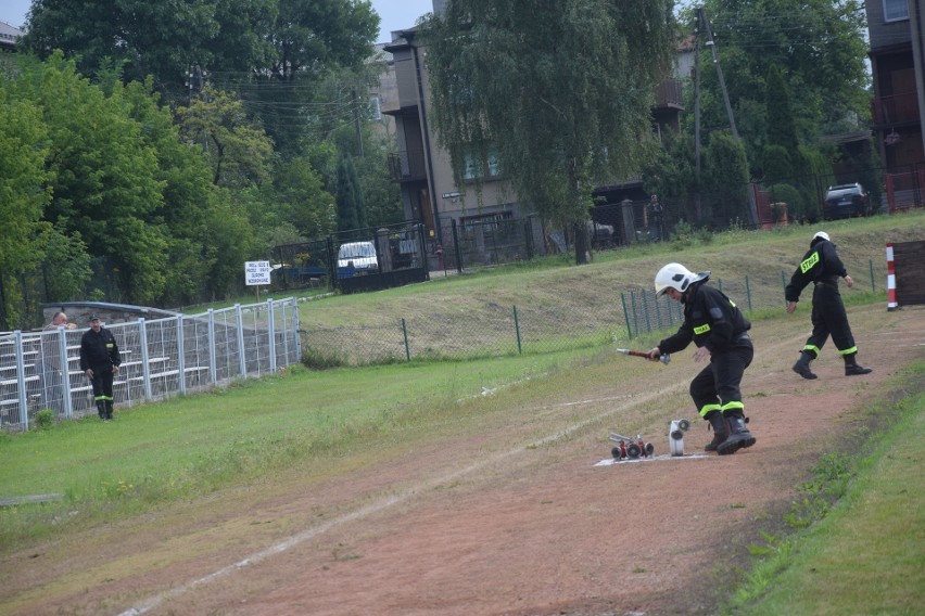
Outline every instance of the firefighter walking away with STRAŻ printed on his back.
{"type": "Polygon", "coordinates": [[[797,301],[800,300],[802,290],[810,282],[815,286],[812,292],[812,334],[800,351],[800,359],[794,364],[794,372],[803,378],[815,378],[816,375],[810,370],[809,364],[819,357],[829,335],[838,354],[845,360],[846,376],[871,372],[870,368],[860,365],[856,359],[858,347],[854,345],[851,325],[848,324],[848,313],[845,312],[845,304],[841,303],[841,294],[838,292],[839,278],[845,279],[845,284],[849,288],[854,286],[854,281],[848,275],[845,265],[838,258],[835,244],[828,239],[828,233],[820,231],[812,236],[809,252],[803,255],[790,278],[790,284],[784,290],[787,312],[793,313],[797,309],[797,301]]]}

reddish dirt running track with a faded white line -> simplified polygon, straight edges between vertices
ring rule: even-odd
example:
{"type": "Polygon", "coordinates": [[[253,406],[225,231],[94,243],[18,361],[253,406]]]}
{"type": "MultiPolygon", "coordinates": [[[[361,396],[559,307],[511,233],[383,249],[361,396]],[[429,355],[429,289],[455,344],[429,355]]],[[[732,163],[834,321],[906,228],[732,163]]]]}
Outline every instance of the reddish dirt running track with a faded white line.
{"type": "MultiPolygon", "coordinates": [[[[847,434],[886,382],[925,358],[925,309],[849,310],[872,374],[790,371],[808,306],[783,335],[752,331],[743,389],[755,447],[735,455],[595,466],[618,418],[668,452],[668,421],[710,439],[686,398],[693,347],[641,362],[622,390],[550,397],[518,425],[446,438],[344,478],[251,486],[0,560],[5,614],[713,614],[774,531],[820,444],[847,434]]],[[[776,328],[781,328],[778,321],[776,328]]],[[[613,364],[634,361],[614,356],[613,364]]],[[[635,363],[633,363],[635,365],[635,363]]],[[[884,412],[889,412],[884,408],[884,412]]]]}

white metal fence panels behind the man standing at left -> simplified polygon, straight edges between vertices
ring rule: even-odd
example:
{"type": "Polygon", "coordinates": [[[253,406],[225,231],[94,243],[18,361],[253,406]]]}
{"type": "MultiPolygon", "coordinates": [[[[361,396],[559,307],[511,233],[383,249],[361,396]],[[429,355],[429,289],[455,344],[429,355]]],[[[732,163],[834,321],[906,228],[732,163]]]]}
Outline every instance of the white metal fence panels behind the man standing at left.
{"type": "MultiPolygon", "coordinates": [[[[106,329],[122,354],[114,382],[116,408],[271,374],[297,363],[302,355],[294,298],[106,329]]],[[[59,328],[0,336],[0,428],[27,431],[41,409],[62,420],[96,414],[92,388],[80,371],[85,331],[59,328]]]]}

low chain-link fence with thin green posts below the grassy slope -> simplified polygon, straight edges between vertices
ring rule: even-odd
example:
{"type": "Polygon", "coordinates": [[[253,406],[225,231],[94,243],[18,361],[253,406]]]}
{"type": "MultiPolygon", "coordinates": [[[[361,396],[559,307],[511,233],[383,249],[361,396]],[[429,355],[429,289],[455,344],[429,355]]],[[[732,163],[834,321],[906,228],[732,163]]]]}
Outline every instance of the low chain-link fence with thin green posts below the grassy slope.
{"type": "MultiPolygon", "coordinates": [[[[878,291],[885,268],[869,261],[869,271],[852,273],[857,290],[878,291]]],[[[710,279],[743,312],[784,308],[789,271],[780,286],[755,284],[749,277],[710,279]]],[[[883,284],[879,291],[884,291],[883,284]]],[[[410,360],[467,360],[592,348],[612,342],[669,332],[683,321],[683,307],[651,287],[628,286],[613,293],[582,297],[562,305],[500,306],[486,304],[466,318],[436,309],[416,317],[396,316],[384,324],[314,328],[303,322],[304,362],[314,368],[369,365],[410,360]],[[391,322],[390,322],[391,321],[391,322]]]]}

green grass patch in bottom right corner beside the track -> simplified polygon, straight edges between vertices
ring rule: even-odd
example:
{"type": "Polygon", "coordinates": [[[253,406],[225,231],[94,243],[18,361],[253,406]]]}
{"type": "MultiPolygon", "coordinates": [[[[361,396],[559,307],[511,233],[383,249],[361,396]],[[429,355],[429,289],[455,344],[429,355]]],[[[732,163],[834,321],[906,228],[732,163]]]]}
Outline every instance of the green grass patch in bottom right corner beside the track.
{"type": "MultiPolygon", "coordinates": [[[[869,457],[824,458],[803,487],[795,527],[768,538],[747,582],[725,613],[762,615],[921,614],[925,605],[925,362],[880,401],[891,427],[874,435],[869,457]],[[834,460],[834,462],[833,462],[834,460]],[[827,461],[827,463],[826,463],[827,461]],[[828,502],[835,501],[829,510],[828,502]],[[808,513],[809,512],[809,513],[808,513]]],[[[883,420],[884,418],[882,418],[883,420]]],[[[788,518],[794,522],[794,518],[788,518]]]]}

